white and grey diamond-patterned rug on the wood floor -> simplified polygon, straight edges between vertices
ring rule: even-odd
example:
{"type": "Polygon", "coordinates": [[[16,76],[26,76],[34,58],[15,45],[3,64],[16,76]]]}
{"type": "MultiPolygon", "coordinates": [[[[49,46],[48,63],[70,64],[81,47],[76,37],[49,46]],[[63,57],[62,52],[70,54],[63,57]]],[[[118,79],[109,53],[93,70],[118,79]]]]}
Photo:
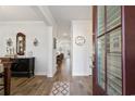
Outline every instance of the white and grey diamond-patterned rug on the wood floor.
{"type": "Polygon", "coordinates": [[[50,96],[70,96],[70,83],[69,81],[54,83],[50,96]]]}

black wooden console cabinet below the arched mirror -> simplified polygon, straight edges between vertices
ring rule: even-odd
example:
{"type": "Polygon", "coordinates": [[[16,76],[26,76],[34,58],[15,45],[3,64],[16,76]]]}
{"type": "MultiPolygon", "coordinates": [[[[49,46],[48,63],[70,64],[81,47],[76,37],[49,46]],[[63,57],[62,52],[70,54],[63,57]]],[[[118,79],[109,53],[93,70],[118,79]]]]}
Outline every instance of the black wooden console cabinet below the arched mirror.
{"type": "Polygon", "coordinates": [[[35,58],[15,58],[12,59],[11,66],[12,76],[16,77],[32,77],[35,71],[35,58]]]}

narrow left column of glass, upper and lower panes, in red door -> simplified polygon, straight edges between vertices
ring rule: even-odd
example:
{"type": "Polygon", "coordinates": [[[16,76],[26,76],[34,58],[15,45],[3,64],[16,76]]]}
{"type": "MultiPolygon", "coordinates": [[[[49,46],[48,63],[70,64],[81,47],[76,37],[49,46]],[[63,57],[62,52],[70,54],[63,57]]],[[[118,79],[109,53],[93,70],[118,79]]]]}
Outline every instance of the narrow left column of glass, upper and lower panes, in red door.
{"type": "MultiPolygon", "coordinates": [[[[99,5],[98,7],[98,31],[97,31],[97,36],[100,36],[105,33],[105,7],[99,5]]],[[[97,72],[97,76],[98,76],[98,85],[105,89],[106,88],[106,72],[105,72],[105,47],[106,47],[106,42],[105,42],[105,36],[101,36],[100,38],[98,38],[98,50],[97,50],[97,61],[98,61],[98,72],[97,72]]]]}

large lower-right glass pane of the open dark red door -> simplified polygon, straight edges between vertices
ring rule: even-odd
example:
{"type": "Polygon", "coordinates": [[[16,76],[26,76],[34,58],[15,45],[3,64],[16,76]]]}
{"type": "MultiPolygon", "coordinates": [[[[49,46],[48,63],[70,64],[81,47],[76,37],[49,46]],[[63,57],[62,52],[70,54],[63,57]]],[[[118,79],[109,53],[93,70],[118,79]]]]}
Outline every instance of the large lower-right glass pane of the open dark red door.
{"type": "Polygon", "coordinates": [[[108,94],[122,94],[121,27],[107,36],[108,94]]]}

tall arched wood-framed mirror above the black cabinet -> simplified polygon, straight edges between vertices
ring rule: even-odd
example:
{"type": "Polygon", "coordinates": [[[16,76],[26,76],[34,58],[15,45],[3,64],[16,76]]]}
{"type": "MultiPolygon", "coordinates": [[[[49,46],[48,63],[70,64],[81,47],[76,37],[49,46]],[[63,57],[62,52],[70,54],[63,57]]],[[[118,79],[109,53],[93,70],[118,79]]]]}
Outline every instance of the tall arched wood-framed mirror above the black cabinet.
{"type": "Polygon", "coordinates": [[[17,33],[16,35],[16,53],[19,55],[24,55],[25,52],[25,35],[22,33],[17,33]]]}

